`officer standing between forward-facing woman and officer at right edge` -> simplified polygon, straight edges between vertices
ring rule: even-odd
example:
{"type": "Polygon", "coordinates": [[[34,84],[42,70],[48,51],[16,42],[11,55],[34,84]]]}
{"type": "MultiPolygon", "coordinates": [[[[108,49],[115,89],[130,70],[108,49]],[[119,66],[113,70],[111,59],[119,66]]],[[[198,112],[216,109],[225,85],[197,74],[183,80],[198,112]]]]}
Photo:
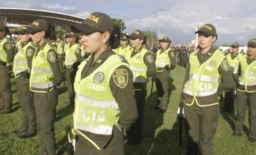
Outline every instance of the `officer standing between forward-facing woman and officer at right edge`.
{"type": "MultiPolygon", "coordinates": [[[[239,76],[238,75],[239,59],[240,57],[242,57],[242,55],[238,53],[238,50],[239,50],[239,44],[237,42],[234,42],[231,45],[231,53],[227,55],[228,64],[230,66],[229,70],[232,73],[233,79],[235,81],[235,85],[237,83],[236,79],[239,76]]],[[[234,90],[225,92],[223,111],[233,112],[234,98],[235,98],[234,90]]]]}

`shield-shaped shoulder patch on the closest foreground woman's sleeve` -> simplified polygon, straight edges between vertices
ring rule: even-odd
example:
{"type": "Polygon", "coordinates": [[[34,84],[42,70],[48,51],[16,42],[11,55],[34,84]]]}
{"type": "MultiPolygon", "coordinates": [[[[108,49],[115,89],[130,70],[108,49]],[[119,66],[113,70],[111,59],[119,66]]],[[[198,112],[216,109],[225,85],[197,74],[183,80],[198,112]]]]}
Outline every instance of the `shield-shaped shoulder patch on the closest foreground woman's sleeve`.
{"type": "Polygon", "coordinates": [[[120,88],[125,88],[128,83],[128,73],[126,69],[117,69],[112,74],[114,82],[120,88]]]}

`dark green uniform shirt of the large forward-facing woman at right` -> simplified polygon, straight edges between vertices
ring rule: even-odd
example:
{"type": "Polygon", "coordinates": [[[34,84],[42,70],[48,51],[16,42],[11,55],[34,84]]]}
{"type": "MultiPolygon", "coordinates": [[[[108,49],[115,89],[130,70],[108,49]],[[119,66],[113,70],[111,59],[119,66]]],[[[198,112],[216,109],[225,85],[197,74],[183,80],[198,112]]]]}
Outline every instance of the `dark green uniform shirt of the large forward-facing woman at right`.
{"type": "MultiPolygon", "coordinates": [[[[213,47],[209,49],[208,52],[202,54],[201,50],[197,53],[197,59],[199,64],[203,64],[206,62],[216,51],[213,47]]],[[[185,74],[185,79],[183,82],[182,90],[184,87],[184,84],[189,80],[189,71],[190,71],[190,62],[188,63],[187,69],[186,69],[186,74],[185,74]]],[[[232,74],[229,71],[229,65],[227,62],[227,58],[224,58],[221,62],[221,65],[218,67],[218,72],[220,73],[221,76],[221,82],[219,83],[218,89],[221,91],[231,91],[235,87],[235,83],[232,77],[232,74]]],[[[187,95],[185,93],[181,93],[180,95],[180,102],[183,101],[184,98],[191,98],[190,95],[187,95]]],[[[192,96],[193,98],[193,96],[192,96]]],[[[204,96],[204,97],[197,97],[197,102],[199,104],[201,103],[216,103],[218,102],[218,94],[215,93],[213,95],[209,96],[204,96]]]]}

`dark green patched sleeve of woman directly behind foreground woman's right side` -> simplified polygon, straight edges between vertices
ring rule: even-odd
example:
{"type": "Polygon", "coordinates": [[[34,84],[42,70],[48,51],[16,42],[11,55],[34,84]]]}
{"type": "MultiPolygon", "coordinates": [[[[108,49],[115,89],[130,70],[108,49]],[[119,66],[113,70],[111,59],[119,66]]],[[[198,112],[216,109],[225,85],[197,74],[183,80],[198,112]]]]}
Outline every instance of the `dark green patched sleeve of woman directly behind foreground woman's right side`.
{"type": "Polygon", "coordinates": [[[143,57],[145,65],[147,65],[147,76],[155,77],[157,75],[156,63],[151,52],[145,53],[143,57]]]}

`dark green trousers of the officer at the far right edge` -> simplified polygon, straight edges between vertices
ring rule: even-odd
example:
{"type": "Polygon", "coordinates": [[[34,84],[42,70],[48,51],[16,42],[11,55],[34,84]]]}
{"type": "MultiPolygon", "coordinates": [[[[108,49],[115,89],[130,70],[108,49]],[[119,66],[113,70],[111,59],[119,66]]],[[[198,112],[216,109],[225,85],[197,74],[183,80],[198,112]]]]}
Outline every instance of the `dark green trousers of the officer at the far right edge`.
{"type": "Polygon", "coordinates": [[[237,124],[235,126],[235,132],[241,133],[243,130],[247,103],[249,104],[249,137],[256,138],[256,92],[247,93],[237,91],[237,124]]]}

